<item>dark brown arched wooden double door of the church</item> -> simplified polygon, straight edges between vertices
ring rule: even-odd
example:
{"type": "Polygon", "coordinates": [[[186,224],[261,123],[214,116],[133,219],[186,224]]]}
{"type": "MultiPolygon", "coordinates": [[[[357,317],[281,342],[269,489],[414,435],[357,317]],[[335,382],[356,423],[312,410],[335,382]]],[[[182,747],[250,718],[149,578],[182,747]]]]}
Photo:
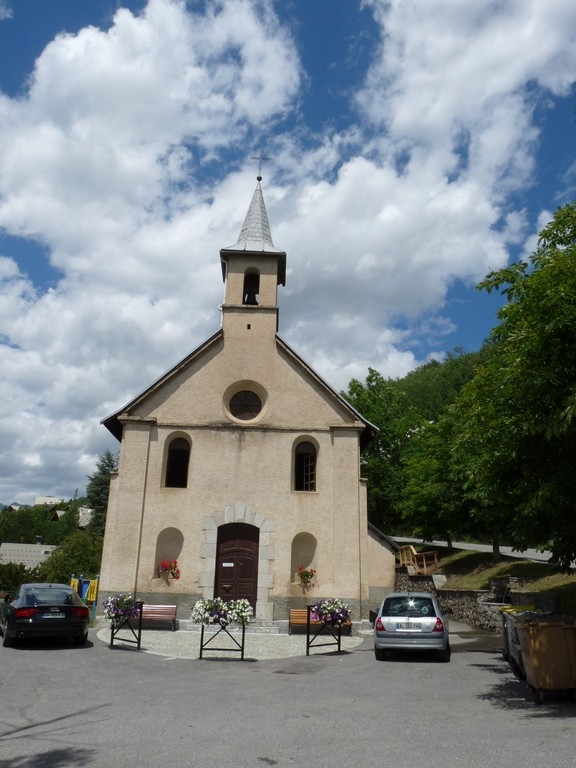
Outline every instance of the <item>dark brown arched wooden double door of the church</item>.
{"type": "Polygon", "coordinates": [[[214,596],[248,600],[256,612],[260,530],[246,523],[218,528],[214,596]]]}

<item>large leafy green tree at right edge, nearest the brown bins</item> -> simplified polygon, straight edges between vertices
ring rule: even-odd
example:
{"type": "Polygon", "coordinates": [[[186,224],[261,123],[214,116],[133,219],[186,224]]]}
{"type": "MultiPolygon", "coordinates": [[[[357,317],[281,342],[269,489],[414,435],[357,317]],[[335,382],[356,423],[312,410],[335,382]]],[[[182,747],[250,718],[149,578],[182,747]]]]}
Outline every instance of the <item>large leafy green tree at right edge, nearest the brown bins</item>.
{"type": "Polygon", "coordinates": [[[576,204],[537,251],[480,284],[507,303],[494,350],[459,403],[455,444],[470,494],[518,548],[576,557],[576,204]]]}

